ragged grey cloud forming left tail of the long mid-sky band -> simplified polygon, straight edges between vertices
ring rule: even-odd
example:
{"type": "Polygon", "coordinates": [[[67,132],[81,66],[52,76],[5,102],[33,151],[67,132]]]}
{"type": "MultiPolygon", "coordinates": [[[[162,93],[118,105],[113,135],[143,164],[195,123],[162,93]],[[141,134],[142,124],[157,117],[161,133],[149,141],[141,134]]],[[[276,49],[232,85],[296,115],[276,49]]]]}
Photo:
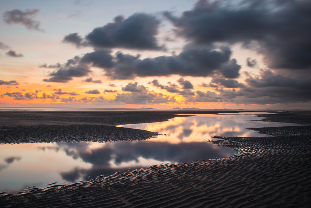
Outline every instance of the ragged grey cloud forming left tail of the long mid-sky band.
{"type": "Polygon", "coordinates": [[[80,63],[80,57],[75,56],[73,59],[67,60],[66,64],[60,65],[58,70],[49,74],[52,76],[49,79],[44,79],[45,82],[63,82],[66,83],[72,80],[72,77],[86,76],[91,70],[84,63],[80,63]]]}

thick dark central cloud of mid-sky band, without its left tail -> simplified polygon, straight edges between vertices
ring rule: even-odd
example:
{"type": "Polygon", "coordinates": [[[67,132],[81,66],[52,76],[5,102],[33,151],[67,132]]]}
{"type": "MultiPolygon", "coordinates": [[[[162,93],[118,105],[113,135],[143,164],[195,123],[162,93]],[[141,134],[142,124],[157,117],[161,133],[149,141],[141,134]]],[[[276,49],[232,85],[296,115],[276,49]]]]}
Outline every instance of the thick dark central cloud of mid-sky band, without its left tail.
{"type": "Polygon", "coordinates": [[[178,56],[159,56],[139,59],[139,56],[117,54],[115,67],[106,70],[111,79],[134,77],[182,75],[207,77],[220,74],[225,78],[237,78],[240,65],[230,60],[227,46],[186,47],[178,56]]]}

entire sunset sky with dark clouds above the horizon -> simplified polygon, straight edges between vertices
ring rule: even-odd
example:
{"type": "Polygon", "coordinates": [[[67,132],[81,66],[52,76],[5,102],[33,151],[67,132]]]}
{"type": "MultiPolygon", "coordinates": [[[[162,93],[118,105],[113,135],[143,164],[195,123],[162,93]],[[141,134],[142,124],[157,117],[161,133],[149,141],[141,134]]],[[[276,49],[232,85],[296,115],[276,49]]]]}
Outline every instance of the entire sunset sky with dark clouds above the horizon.
{"type": "Polygon", "coordinates": [[[309,0],[0,0],[0,107],[311,109],[309,0]]]}

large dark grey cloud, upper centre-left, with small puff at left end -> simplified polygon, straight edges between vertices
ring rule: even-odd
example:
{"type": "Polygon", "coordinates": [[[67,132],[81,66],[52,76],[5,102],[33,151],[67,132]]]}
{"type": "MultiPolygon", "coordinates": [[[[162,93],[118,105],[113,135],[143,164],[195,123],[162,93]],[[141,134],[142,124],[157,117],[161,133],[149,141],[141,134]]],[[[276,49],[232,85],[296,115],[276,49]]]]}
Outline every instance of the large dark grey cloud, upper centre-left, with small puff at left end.
{"type": "Polygon", "coordinates": [[[77,33],[64,37],[63,42],[80,46],[104,48],[130,48],[141,50],[163,50],[158,46],[156,35],[160,22],[150,14],[135,13],[124,19],[123,16],[114,18],[114,22],[103,27],[96,27],[83,39],[77,33]]]}

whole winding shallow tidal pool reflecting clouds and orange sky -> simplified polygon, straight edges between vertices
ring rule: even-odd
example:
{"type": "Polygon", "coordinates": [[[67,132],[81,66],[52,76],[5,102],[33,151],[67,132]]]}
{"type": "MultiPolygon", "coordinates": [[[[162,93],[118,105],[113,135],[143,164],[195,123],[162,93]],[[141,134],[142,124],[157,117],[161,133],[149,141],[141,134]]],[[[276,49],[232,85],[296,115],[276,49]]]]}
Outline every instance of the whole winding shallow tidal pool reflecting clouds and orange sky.
{"type": "Polygon", "coordinates": [[[162,134],[143,142],[1,144],[0,193],[88,180],[160,163],[227,157],[235,151],[209,142],[213,136],[262,137],[265,135],[246,128],[295,125],[249,121],[260,119],[251,113],[197,114],[165,122],[120,126],[162,134]]]}

